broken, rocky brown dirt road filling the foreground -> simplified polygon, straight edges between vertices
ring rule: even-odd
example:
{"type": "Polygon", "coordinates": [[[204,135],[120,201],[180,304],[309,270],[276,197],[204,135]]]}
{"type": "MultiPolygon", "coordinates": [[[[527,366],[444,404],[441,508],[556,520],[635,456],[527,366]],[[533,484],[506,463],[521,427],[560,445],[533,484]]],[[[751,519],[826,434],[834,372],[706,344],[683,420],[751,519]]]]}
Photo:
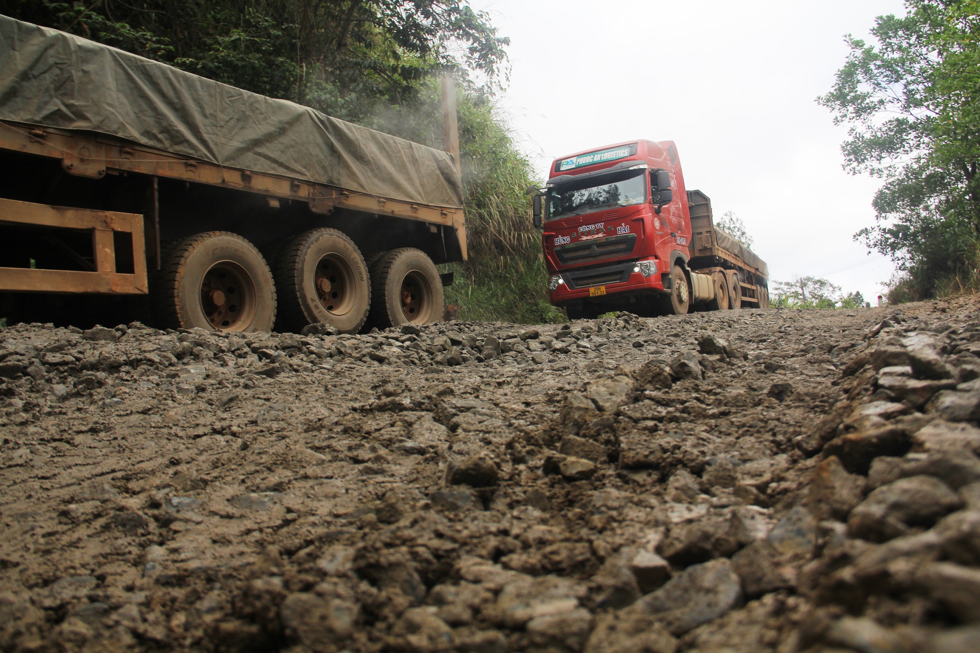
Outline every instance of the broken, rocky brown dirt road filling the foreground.
{"type": "Polygon", "coordinates": [[[0,648],[980,650],[978,309],[6,328],[0,648]]]}

